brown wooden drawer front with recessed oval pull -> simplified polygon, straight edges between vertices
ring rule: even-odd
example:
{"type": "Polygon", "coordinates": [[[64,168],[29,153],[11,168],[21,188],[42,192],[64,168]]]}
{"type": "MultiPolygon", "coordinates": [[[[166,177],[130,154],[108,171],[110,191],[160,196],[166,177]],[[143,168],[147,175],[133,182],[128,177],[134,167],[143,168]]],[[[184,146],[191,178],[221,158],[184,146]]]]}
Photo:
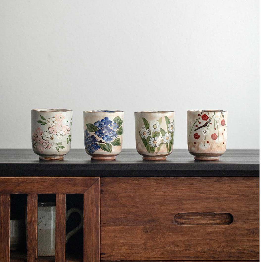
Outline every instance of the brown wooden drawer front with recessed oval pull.
{"type": "Polygon", "coordinates": [[[101,178],[101,260],[258,259],[258,177],[101,178]]]}

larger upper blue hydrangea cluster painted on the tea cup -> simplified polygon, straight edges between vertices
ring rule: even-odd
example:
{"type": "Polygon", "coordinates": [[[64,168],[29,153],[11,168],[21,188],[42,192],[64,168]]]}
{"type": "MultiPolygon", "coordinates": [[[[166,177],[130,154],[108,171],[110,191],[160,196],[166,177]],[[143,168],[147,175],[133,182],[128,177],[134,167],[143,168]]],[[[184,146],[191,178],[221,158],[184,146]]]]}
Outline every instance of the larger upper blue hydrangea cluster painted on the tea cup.
{"type": "Polygon", "coordinates": [[[119,126],[116,122],[112,122],[108,117],[95,122],[94,125],[98,128],[98,130],[95,131],[95,134],[102,138],[106,143],[110,143],[118,137],[116,131],[119,126]]]}

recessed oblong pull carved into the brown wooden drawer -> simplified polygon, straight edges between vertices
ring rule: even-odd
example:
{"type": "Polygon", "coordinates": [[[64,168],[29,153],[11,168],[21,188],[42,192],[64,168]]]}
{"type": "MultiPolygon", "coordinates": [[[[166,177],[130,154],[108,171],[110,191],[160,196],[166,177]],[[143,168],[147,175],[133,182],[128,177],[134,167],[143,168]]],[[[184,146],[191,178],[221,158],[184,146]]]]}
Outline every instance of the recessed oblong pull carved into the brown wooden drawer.
{"type": "Polygon", "coordinates": [[[178,226],[229,225],[233,219],[230,213],[177,213],[174,216],[174,222],[178,226]]]}

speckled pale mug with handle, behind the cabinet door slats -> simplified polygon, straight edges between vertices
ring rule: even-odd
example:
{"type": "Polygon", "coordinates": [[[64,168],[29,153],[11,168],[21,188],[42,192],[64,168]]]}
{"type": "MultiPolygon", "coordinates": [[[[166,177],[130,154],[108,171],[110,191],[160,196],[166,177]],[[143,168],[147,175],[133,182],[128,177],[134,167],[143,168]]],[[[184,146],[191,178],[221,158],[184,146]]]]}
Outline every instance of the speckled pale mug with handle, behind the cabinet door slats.
{"type": "MultiPolygon", "coordinates": [[[[83,213],[78,208],[65,207],[65,221],[73,212],[77,212],[81,217],[81,222],[77,227],[65,235],[65,243],[83,227],[83,213]]],[[[27,206],[25,208],[27,225],[27,206]]],[[[27,232],[27,230],[26,230],[27,232]]],[[[56,254],[56,203],[41,202],[37,206],[37,255],[54,256],[56,254]]]]}

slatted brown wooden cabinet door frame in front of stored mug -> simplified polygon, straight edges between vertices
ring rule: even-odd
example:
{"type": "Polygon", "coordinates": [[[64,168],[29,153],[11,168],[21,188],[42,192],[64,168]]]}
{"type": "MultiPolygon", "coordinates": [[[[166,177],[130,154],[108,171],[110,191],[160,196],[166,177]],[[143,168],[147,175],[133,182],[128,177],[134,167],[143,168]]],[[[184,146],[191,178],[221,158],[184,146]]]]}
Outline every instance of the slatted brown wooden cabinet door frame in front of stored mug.
{"type": "Polygon", "coordinates": [[[37,261],[37,194],[56,194],[59,262],[65,262],[65,194],[84,195],[83,261],[100,261],[99,177],[0,177],[0,262],[10,261],[10,194],[27,194],[28,262],[37,261]]]}

